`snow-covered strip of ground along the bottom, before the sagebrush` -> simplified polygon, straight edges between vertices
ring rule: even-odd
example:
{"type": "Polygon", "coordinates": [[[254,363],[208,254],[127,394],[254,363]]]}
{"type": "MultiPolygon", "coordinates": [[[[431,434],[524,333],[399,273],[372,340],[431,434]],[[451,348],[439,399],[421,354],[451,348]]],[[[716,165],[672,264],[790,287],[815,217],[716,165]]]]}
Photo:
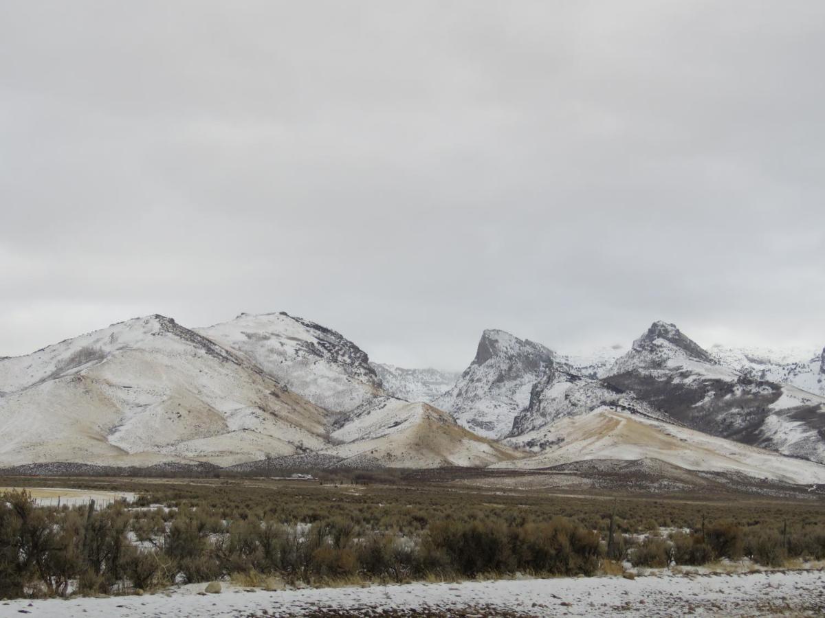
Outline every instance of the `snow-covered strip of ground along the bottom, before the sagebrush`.
{"type": "MultiPolygon", "coordinates": [[[[479,608],[483,616],[820,616],[825,612],[825,573],[769,572],[731,575],[662,575],[554,578],[520,581],[414,583],[371,588],[320,588],[285,592],[198,595],[204,584],[144,597],[0,603],[0,618],[21,616],[370,616],[390,609],[413,616],[479,608]],[[31,604],[30,604],[31,603],[31,604]]],[[[430,614],[432,615],[432,614],[430,614]]]]}

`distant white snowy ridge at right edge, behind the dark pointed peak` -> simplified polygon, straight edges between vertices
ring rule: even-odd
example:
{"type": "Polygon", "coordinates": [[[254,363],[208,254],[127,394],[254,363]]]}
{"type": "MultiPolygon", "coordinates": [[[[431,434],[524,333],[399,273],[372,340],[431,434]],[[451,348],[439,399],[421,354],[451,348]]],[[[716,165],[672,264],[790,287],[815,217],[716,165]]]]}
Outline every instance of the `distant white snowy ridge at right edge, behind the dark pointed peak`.
{"type": "Polygon", "coordinates": [[[719,363],[755,380],[780,382],[825,396],[825,349],[729,348],[714,345],[719,363]]]}

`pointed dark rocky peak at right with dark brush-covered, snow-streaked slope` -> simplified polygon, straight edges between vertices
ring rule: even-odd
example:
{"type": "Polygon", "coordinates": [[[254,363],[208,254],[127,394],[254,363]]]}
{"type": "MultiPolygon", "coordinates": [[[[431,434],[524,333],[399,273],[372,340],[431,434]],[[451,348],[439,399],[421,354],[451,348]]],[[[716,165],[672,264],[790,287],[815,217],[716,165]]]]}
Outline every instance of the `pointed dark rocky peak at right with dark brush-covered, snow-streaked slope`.
{"type": "Polygon", "coordinates": [[[654,322],[603,379],[687,427],[825,462],[825,398],[736,371],[654,322]]]}

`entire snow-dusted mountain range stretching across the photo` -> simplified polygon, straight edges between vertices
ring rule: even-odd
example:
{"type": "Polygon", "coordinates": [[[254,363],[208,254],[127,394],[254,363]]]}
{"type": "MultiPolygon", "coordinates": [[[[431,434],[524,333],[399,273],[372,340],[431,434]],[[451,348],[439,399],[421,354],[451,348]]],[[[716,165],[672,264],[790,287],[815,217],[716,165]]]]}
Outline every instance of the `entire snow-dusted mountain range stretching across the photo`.
{"type": "Polygon", "coordinates": [[[0,467],[655,461],[819,485],[823,357],[705,350],[657,321],[589,356],[485,330],[458,374],[370,362],[285,312],[192,330],[146,316],[0,358],[0,467]]]}

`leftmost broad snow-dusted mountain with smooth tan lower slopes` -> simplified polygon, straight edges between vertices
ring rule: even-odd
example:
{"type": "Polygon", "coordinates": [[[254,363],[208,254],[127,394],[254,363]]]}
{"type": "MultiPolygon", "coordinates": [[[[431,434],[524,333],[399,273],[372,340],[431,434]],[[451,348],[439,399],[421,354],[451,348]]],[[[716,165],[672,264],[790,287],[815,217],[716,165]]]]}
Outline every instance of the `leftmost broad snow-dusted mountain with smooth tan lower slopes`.
{"type": "Polygon", "coordinates": [[[327,413],[164,316],[0,361],[0,463],[229,465],[319,449],[327,413]]]}

